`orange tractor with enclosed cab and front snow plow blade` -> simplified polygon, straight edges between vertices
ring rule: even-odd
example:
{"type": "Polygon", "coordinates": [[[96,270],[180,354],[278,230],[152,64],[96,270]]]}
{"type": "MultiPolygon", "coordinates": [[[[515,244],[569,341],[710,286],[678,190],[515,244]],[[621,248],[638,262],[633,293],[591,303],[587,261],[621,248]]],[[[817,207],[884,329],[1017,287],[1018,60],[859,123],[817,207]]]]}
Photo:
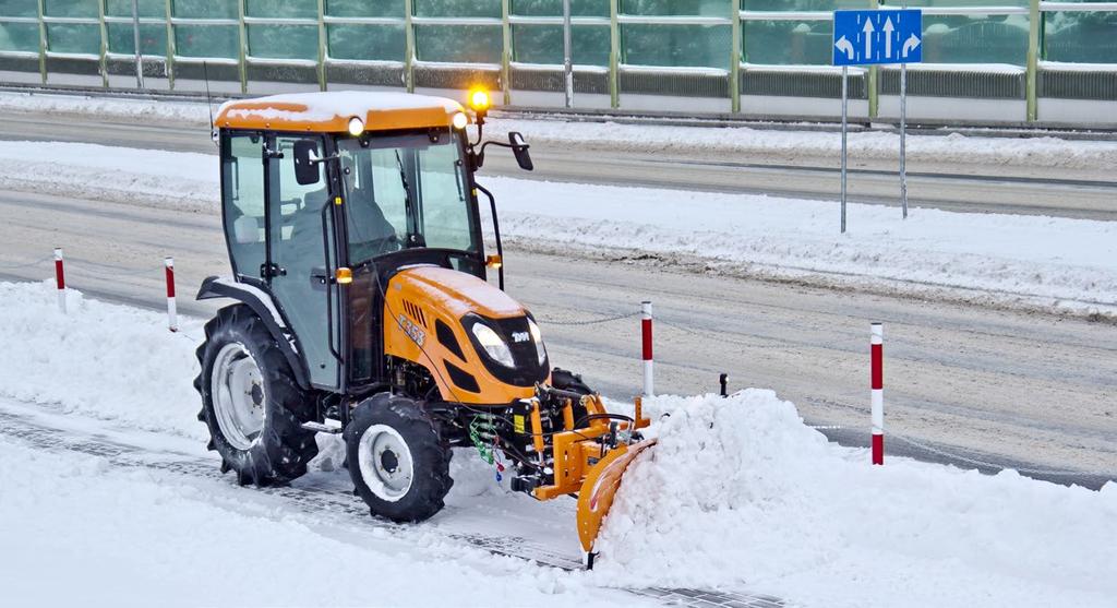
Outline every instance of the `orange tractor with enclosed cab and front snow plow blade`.
{"type": "Polygon", "coordinates": [[[651,445],[648,420],[639,402],[634,416],[610,414],[580,377],[552,369],[534,317],[505,294],[496,203],[475,174],[490,145],[533,165],[518,133],[481,143],[488,97],[470,102],[467,113],[345,92],[221,107],[232,275],[206,279],[198,297],[237,303],[198,349],[199,419],[241,484],[290,482],[317,433],[341,434],[356,493],[397,522],[442,509],[451,448],[474,446],[507,463],[515,491],[576,495],[592,559],[624,467],[651,445]]]}

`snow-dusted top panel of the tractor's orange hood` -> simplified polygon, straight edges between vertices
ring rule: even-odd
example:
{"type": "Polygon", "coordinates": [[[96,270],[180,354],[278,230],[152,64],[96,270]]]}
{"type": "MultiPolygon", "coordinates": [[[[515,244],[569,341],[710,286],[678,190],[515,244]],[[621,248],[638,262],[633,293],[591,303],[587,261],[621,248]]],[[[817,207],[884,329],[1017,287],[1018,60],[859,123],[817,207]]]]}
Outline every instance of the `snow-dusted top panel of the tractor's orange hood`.
{"type": "Polygon", "coordinates": [[[527,310],[508,294],[480,278],[440,266],[418,266],[400,270],[392,277],[389,287],[413,291],[423,305],[441,308],[455,319],[469,313],[487,319],[527,314],[527,310]]]}

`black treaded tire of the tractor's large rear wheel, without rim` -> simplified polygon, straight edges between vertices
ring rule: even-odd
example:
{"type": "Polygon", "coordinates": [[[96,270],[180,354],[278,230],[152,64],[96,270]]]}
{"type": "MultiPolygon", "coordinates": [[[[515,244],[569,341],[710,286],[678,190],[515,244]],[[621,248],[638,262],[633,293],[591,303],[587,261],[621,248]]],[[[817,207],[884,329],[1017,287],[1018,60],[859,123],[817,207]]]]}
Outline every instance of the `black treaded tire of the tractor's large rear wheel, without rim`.
{"type": "Polygon", "coordinates": [[[221,455],[221,472],[232,469],[240,485],[258,486],[285,484],[304,475],[307,463],[318,453],[315,433],[300,426],[314,419],[315,401],[299,388],[279,344],[256,313],[244,304],[218,311],[206,324],[206,342],[197,354],[201,373],[194,388],[202,398],[198,419],[209,428],[208,448],[221,455]],[[214,359],[230,344],[239,344],[256,362],[262,389],[259,397],[250,397],[262,401],[262,428],[247,448],[226,436],[214,410],[214,359]]]}

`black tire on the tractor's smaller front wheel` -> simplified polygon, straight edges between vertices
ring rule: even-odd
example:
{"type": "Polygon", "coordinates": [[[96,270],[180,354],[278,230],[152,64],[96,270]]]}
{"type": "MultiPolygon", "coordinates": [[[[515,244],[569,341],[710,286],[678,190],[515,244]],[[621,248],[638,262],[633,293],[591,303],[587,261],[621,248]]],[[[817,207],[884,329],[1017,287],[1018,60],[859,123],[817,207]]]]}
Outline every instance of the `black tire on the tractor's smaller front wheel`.
{"type": "Polygon", "coordinates": [[[418,402],[389,393],[375,395],[353,409],[344,437],[353,485],[374,516],[400,523],[421,522],[442,510],[442,498],[454,485],[450,478],[452,452],[418,402]],[[369,467],[381,466],[381,471],[394,473],[392,462],[384,459],[388,454],[392,455],[397,466],[405,457],[395,455],[392,449],[388,449],[388,454],[382,453],[379,460],[371,454],[373,447],[370,444],[375,441],[378,434],[384,433],[383,427],[398,435],[389,441],[402,440],[411,458],[410,485],[395,491],[399,494],[394,497],[389,496],[393,490],[386,484],[378,485],[381,484],[379,478],[366,479],[367,475],[376,475],[369,467]],[[365,439],[364,446],[362,438],[365,439]],[[376,486],[378,491],[370,486],[376,486]]]}

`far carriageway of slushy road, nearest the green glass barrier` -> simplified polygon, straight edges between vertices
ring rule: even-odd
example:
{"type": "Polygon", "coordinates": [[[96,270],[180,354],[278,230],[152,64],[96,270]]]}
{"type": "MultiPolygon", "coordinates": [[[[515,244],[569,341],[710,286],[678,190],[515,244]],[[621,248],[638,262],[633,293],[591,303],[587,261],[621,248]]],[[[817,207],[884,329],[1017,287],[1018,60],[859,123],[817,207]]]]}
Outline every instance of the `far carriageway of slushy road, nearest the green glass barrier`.
{"type": "MultiPolygon", "coordinates": [[[[726,132],[731,136],[732,132],[726,132]]],[[[525,129],[532,143],[532,133],[525,129]]],[[[216,153],[206,125],[154,121],[99,121],[36,113],[4,114],[0,140],[75,141],[182,152],[216,153]]],[[[1012,140],[1005,140],[1012,145],[1012,140]]],[[[701,152],[626,152],[570,144],[532,145],[535,171],[521,171],[510,154],[489,154],[485,172],[579,183],[607,183],[764,193],[834,200],[840,191],[839,159],[791,152],[764,156],[701,152]]],[[[897,205],[895,162],[850,156],[849,197],[857,202],[897,205]]],[[[216,165],[214,165],[216,170],[216,165]]],[[[914,207],[956,211],[1039,213],[1117,220],[1117,174],[1113,167],[1089,170],[908,162],[914,207]]]]}

